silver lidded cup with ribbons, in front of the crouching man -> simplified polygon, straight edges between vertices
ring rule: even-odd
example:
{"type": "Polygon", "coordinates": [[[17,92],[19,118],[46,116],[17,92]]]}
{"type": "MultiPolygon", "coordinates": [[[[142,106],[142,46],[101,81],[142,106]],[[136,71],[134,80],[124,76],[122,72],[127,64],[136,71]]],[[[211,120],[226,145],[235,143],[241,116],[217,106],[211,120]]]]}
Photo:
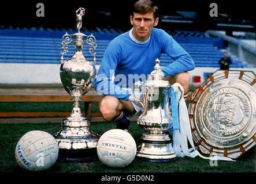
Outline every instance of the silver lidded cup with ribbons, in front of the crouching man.
{"type": "Polygon", "coordinates": [[[172,128],[171,86],[168,81],[162,80],[164,74],[159,62],[159,59],[155,60],[155,70],[151,72],[149,80],[133,85],[132,91],[135,98],[136,90],[142,92],[142,101],[139,103],[143,106],[143,111],[138,118],[138,124],[140,128],[146,130],[140,138],[141,144],[136,156],[151,162],[168,162],[176,158],[172,141],[165,133],[172,128]]]}

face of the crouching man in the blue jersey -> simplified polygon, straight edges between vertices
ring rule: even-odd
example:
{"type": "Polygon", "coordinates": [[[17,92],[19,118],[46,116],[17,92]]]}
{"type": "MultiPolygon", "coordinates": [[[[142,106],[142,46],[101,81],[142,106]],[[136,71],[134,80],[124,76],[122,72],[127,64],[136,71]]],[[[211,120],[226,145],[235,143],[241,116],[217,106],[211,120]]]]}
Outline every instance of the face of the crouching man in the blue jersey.
{"type": "Polygon", "coordinates": [[[154,19],[154,13],[133,13],[130,17],[131,24],[133,25],[132,34],[135,39],[139,41],[146,41],[149,39],[151,31],[154,26],[158,24],[158,18],[154,19]]]}

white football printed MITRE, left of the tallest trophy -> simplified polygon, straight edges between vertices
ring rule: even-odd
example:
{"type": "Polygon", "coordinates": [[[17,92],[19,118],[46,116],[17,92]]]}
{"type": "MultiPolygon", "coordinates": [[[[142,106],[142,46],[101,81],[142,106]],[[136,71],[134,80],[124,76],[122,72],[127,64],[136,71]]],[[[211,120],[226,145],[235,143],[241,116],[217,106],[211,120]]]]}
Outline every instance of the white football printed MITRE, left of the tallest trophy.
{"type": "Polygon", "coordinates": [[[43,131],[25,133],[18,141],[15,157],[25,170],[47,170],[58,158],[58,143],[52,135],[43,131]]]}

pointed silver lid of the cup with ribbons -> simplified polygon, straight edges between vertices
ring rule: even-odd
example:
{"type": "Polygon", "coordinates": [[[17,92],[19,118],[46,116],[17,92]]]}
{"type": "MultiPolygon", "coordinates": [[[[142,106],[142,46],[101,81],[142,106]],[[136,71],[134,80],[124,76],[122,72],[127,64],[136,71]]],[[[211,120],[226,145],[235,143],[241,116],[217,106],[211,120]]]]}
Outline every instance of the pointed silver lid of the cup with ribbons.
{"type": "Polygon", "coordinates": [[[151,72],[149,79],[146,81],[146,85],[150,87],[170,87],[168,81],[162,80],[162,78],[164,78],[165,75],[162,72],[159,63],[160,60],[158,58],[155,59],[155,70],[151,72]]]}

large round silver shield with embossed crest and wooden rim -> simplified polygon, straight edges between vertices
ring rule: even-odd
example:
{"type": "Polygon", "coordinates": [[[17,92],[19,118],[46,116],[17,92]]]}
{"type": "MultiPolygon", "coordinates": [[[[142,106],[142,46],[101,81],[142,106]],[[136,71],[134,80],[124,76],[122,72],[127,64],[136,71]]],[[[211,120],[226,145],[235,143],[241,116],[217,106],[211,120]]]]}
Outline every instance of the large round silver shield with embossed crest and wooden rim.
{"type": "Polygon", "coordinates": [[[217,70],[192,94],[188,114],[202,154],[236,159],[256,145],[256,75],[217,70]]]}

